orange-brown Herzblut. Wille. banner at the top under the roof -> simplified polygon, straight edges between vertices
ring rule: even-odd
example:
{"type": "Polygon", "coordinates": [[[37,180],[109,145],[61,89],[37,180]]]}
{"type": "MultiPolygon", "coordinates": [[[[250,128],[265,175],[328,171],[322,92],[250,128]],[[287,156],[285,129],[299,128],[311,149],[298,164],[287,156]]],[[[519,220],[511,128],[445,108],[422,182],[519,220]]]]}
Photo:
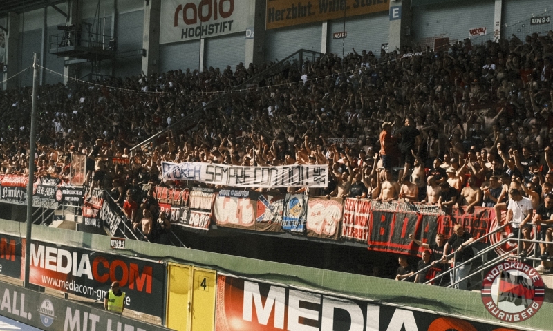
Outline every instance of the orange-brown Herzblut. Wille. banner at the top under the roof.
{"type": "Polygon", "coordinates": [[[266,28],[282,28],[297,24],[344,19],[373,12],[387,12],[388,0],[267,0],[266,28]]]}

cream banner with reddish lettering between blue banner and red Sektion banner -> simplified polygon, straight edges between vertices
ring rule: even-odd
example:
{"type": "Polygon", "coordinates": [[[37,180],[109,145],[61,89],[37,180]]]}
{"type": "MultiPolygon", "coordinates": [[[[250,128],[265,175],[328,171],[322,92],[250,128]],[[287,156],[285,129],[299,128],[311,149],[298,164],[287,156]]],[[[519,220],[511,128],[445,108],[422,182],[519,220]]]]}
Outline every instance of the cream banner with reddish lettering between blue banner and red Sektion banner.
{"type": "Polygon", "coordinates": [[[307,235],[337,240],[343,209],[342,198],[313,197],[307,203],[307,235]]]}

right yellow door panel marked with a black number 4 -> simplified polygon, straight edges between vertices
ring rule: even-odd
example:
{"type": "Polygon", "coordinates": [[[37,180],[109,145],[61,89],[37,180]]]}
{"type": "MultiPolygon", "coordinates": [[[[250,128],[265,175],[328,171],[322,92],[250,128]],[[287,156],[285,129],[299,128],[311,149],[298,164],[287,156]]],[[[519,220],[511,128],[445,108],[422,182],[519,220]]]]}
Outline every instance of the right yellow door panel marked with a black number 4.
{"type": "Polygon", "coordinates": [[[214,330],[216,273],[196,267],[193,273],[190,330],[214,330]]]}

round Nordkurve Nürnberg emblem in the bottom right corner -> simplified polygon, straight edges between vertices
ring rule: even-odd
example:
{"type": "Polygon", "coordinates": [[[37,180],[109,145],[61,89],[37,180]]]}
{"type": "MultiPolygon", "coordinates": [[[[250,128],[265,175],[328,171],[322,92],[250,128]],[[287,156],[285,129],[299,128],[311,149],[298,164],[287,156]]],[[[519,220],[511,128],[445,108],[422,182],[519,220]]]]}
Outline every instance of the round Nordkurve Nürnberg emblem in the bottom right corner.
{"type": "Polygon", "coordinates": [[[540,274],[522,262],[500,263],[482,281],[482,302],[490,314],[505,322],[520,322],[534,316],[544,296],[540,274]]]}

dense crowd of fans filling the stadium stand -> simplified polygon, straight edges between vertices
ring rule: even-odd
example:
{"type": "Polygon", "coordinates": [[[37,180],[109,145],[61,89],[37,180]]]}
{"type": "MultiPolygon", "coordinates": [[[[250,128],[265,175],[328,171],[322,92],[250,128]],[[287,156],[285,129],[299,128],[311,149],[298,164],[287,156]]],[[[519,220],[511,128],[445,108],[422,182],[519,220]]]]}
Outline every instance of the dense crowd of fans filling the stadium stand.
{"type": "MultiPolygon", "coordinates": [[[[466,206],[469,213],[496,207],[524,229],[553,214],[552,62],[549,31],[379,57],[355,49],[344,58],[326,54],[285,64],[271,86],[233,93],[272,64],[46,85],[39,91],[37,173],[67,181],[71,153],[87,155],[95,170],[86,184],[111,190],[122,206],[134,198],[128,216],[140,222],[157,216],[151,194],[138,195],[138,185],[201,185],[164,182],[162,161],[328,164],[326,189],[281,191],[466,206]],[[206,104],[212,106],[193,128],[174,126],[163,141],[131,155],[133,146],[206,104]],[[131,162],[113,165],[111,157],[131,162]],[[532,209],[545,206],[540,220],[503,203],[520,198],[532,209]]],[[[30,88],[0,93],[2,173],[29,169],[30,100],[30,88]]],[[[546,229],[544,240],[551,237],[546,229]]]]}

